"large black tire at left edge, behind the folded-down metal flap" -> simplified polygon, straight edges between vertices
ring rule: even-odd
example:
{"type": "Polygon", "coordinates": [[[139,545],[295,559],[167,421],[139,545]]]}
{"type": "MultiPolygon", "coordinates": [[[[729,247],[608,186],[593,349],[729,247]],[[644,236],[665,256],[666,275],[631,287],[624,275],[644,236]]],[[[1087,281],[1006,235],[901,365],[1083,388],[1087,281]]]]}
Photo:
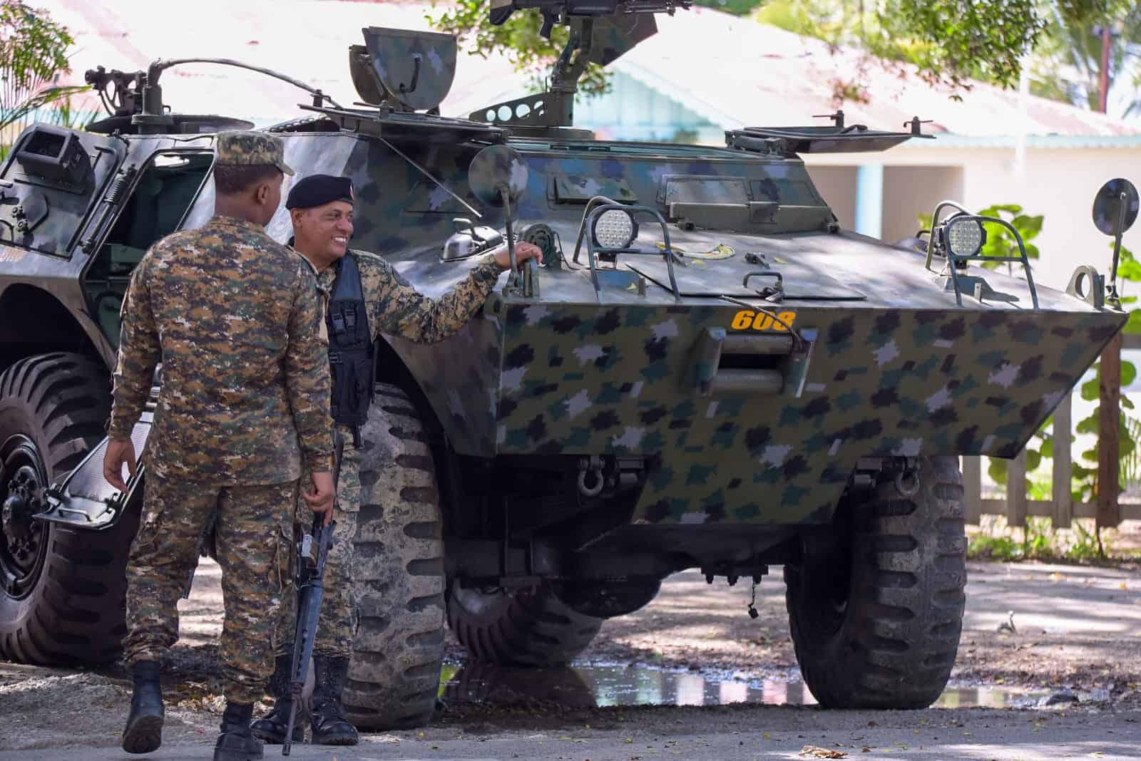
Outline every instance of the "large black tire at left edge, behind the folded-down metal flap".
{"type": "Polygon", "coordinates": [[[137,516],[105,532],[34,521],[37,492],[104,437],[106,369],[80,354],[40,354],[0,376],[0,657],[100,663],[127,632],[124,567],[137,516]]]}

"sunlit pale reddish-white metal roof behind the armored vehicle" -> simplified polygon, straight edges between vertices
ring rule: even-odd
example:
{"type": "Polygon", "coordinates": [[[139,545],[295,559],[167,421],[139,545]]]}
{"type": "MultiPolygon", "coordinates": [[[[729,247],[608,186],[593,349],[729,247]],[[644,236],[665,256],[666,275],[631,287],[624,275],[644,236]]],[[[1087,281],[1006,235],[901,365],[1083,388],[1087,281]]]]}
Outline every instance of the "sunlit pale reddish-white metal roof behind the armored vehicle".
{"type": "MultiPolygon", "coordinates": [[[[430,6],[418,2],[346,0],[196,0],[177,16],[157,13],[151,0],[54,0],[55,18],[76,39],[72,79],[86,68],[135,69],[155,58],[226,57],[277,68],[319,87],[343,105],[356,99],[347,49],[363,26],[429,28],[430,6]]],[[[933,120],[931,132],[966,139],[1012,134],[1022,117],[1017,92],[977,84],[962,103],[931,88],[907,67],[830,51],[819,40],[705,8],[658,17],[659,32],[613,66],[725,129],[743,125],[826,123],[834,109],[833,81],[868,82],[868,101],[845,103],[848,123],[900,129],[914,115],[933,120]]],[[[442,112],[469,112],[525,93],[527,77],[502,55],[461,52],[455,83],[442,112]]],[[[289,84],[238,69],[188,65],[163,74],[167,103],[183,113],[221,113],[260,123],[292,118],[307,96],[289,84]]],[[[1042,98],[1025,100],[1026,132],[1057,145],[1065,138],[1131,138],[1141,130],[1082,108],[1042,98]]],[[[957,138],[956,138],[957,139],[957,138]]],[[[946,146],[950,141],[932,141],[946,146]]],[[[1127,140],[1133,145],[1132,140],[1127,140]]],[[[968,145],[958,142],[957,145],[968,145]]],[[[1101,145],[1101,144],[1099,144],[1101,145]]]]}

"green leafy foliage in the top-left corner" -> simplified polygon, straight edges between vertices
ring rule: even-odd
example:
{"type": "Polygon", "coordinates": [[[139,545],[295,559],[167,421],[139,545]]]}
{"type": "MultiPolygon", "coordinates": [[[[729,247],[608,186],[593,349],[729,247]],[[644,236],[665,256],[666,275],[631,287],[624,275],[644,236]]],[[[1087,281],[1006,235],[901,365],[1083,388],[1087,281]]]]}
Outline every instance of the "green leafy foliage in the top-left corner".
{"type": "Polygon", "coordinates": [[[81,88],[59,87],[74,40],[47,11],[0,0],[0,133],[81,88]]]}

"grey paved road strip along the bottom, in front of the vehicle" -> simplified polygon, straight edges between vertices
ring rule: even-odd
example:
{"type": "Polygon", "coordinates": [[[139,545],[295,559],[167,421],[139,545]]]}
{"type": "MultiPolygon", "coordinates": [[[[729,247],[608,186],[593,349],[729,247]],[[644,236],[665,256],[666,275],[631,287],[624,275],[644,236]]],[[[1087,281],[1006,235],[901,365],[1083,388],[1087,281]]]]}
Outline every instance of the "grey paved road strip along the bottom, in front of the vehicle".
{"type": "MultiPolygon", "coordinates": [[[[884,721],[863,712],[826,713],[756,706],[736,712],[725,727],[712,733],[648,733],[645,730],[510,731],[461,739],[419,739],[412,733],[372,735],[354,748],[294,745],[290,758],[299,761],[397,761],[450,759],[513,761],[515,759],[566,759],[583,761],[648,761],[675,756],[753,761],[801,759],[806,745],[826,747],[852,759],[1136,759],[1141,754],[1141,714],[1051,715],[1014,711],[924,711],[899,714],[884,721]],[[914,718],[913,718],[914,717],[914,718]],[[1034,718],[1041,718],[1035,721],[1034,718]],[[920,723],[924,719],[928,723],[920,723]],[[868,721],[900,726],[868,727],[868,721]],[[763,727],[763,729],[761,729],[763,727]],[[864,751],[863,748],[868,748],[864,751]]],[[[114,748],[19,751],[0,753],[3,761],[205,761],[212,756],[212,739],[178,744],[146,755],[129,755],[114,748]]],[[[267,747],[266,758],[280,758],[280,748],[267,747]]]]}

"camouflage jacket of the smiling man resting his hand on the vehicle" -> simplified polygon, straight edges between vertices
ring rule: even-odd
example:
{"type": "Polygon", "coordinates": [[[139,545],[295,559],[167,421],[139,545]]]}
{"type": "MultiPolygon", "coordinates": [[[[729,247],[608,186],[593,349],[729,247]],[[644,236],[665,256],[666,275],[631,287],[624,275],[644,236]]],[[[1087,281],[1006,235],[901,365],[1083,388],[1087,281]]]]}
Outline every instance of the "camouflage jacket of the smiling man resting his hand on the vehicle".
{"type": "MultiPolygon", "coordinates": [[[[361,270],[361,288],[369,310],[373,341],[391,333],[421,344],[434,344],[462,328],[487,301],[503,271],[495,257],[486,254],[468,278],[434,301],[404,281],[387,261],[364,251],[351,251],[361,270]]],[[[324,301],[337,279],[337,268],[327,267],[317,276],[324,301]]]]}

